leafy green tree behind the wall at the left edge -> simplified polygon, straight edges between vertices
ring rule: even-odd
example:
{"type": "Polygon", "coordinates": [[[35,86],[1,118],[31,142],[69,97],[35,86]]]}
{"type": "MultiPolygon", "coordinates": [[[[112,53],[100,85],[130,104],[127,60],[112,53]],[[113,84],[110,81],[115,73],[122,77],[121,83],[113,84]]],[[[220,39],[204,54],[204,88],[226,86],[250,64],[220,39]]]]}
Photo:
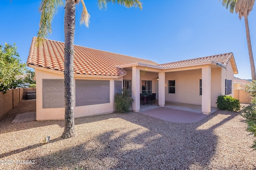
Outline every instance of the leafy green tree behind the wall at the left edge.
{"type": "Polygon", "coordinates": [[[5,43],[0,45],[0,91],[8,90],[18,84],[17,76],[24,74],[26,64],[22,64],[17,47],[5,43]]]}

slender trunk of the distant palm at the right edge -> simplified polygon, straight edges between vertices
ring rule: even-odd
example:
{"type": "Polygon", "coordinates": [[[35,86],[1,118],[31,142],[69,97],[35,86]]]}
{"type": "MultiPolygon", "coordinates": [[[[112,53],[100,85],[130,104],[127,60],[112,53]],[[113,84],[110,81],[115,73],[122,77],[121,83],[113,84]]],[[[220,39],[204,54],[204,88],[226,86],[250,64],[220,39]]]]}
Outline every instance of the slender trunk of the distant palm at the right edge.
{"type": "Polygon", "coordinates": [[[256,80],[256,71],[255,71],[254,59],[253,59],[253,54],[252,54],[252,44],[251,44],[250,30],[249,30],[249,23],[248,23],[247,15],[244,16],[244,23],[245,23],[245,29],[246,29],[246,39],[247,39],[249,59],[250,59],[250,65],[251,65],[252,80],[256,80]]]}

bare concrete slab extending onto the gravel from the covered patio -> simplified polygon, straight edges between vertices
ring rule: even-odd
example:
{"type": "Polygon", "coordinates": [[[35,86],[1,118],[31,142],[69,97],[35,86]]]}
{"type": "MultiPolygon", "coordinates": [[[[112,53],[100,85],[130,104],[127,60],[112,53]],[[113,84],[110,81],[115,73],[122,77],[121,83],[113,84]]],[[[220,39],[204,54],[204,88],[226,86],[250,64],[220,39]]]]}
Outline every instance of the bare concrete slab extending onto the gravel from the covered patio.
{"type": "Polygon", "coordinates": [[[195,123],[208,116],[202,113],[194,113],[169,107],[157,107],[154,109],[140,111],[139,113],[176,123],[195,123]]]}

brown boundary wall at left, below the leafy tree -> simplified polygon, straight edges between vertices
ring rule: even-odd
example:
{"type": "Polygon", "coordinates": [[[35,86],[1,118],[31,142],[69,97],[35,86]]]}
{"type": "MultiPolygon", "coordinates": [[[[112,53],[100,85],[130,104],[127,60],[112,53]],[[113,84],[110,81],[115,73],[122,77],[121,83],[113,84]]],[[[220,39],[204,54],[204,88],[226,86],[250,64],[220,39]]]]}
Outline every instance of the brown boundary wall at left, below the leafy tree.
{"type": "Polygon", "coordinates": [[[36,88],[17,88],[0,92],[0,118],[12,110],[22,99],[26,99],[27,91],[36,91],[36,88]]]}

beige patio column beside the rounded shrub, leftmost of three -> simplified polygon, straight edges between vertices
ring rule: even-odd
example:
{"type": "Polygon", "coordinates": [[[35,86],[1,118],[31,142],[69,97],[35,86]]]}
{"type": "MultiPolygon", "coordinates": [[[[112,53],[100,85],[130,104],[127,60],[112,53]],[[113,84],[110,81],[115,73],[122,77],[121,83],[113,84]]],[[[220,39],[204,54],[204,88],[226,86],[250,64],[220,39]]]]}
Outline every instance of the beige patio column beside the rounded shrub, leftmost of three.
{"type": "Polygon", "coordinates": [[[140,111],[140,69],[136,66],[132,67],[132,110],[140,111]]]}

